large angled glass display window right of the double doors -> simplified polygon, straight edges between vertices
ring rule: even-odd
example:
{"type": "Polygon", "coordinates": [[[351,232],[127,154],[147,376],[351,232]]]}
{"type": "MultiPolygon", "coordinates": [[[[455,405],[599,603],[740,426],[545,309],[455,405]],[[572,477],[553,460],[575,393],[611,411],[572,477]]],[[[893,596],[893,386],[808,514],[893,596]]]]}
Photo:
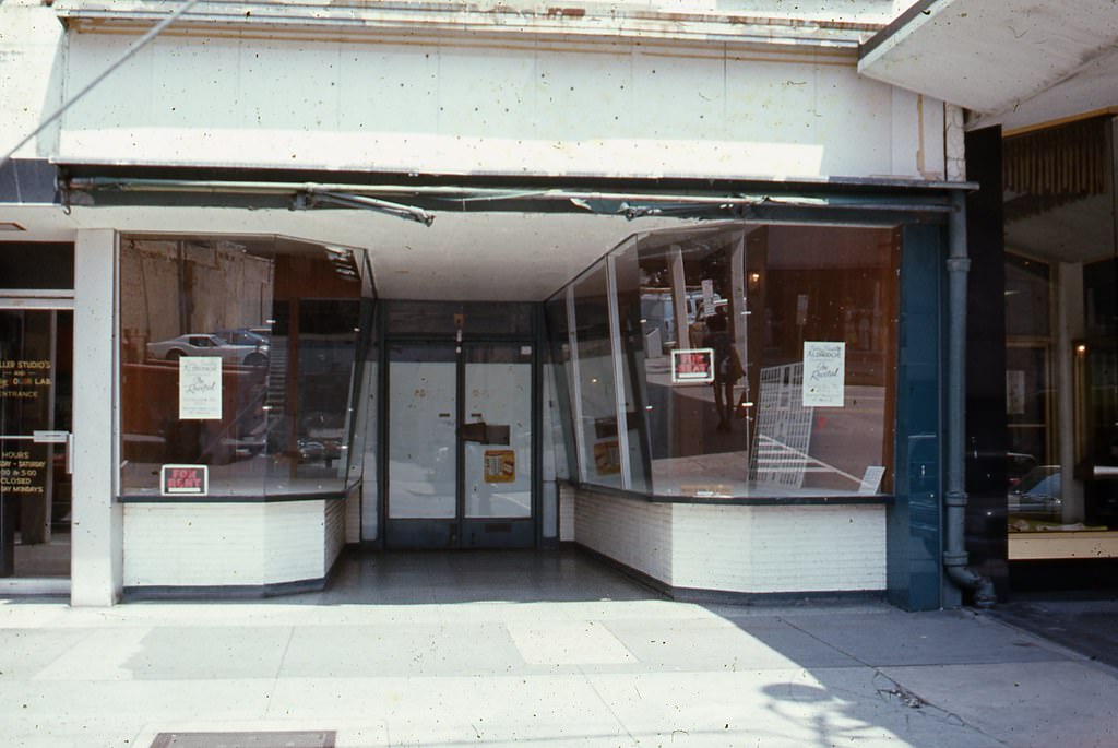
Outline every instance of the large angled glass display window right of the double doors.
{"type": "Polygon", "coordinates": [[[582,480],[704,499],[888,492],[899,253],[891,229],[740,221],[619,244],[549,302],[582,480]]]}

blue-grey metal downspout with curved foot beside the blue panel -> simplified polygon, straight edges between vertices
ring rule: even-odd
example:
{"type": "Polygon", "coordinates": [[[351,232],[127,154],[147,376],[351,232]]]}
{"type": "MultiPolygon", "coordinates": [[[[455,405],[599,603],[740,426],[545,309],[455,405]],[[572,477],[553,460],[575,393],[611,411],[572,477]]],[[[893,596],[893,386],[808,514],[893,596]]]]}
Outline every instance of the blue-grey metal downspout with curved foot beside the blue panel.
{"type": "Polygon", "coordinates": [[[966,195],[956,190],[951,196],[954,210],[949,214],[947,257],[947,493],[944,496],[944,570],[957,586],[974,593],[975,605],[988,608],[997,596],[994,583],[975,574],[967,566],[964,545],[966,529],[966,345],[967,345],[967,203],[966,195]]]}

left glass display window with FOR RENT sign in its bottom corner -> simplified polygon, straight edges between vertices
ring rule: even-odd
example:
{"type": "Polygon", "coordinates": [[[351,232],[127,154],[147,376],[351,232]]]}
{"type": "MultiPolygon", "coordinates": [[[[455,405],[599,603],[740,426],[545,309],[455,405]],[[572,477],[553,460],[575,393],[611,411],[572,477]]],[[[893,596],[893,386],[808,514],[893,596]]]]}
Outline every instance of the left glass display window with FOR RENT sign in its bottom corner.
{"type": "Polygon", "coordinates": [[[364,316],[363,256],[278,237],[121,240],[121,491],[342,492],[364,316]],[[183,470],[183,468],[179,468],[183,470]]]}

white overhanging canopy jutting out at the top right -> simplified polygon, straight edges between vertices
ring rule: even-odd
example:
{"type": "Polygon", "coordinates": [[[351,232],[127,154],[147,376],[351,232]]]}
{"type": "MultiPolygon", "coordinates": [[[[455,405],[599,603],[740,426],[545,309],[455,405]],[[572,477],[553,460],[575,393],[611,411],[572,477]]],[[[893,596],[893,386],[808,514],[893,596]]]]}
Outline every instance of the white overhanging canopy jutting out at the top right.
{"type": "Polygon", "coordinates": [[[859,70],[1008,130],[1118,107],[1112,0],[922,0],[862,47],[859,70]]]}

